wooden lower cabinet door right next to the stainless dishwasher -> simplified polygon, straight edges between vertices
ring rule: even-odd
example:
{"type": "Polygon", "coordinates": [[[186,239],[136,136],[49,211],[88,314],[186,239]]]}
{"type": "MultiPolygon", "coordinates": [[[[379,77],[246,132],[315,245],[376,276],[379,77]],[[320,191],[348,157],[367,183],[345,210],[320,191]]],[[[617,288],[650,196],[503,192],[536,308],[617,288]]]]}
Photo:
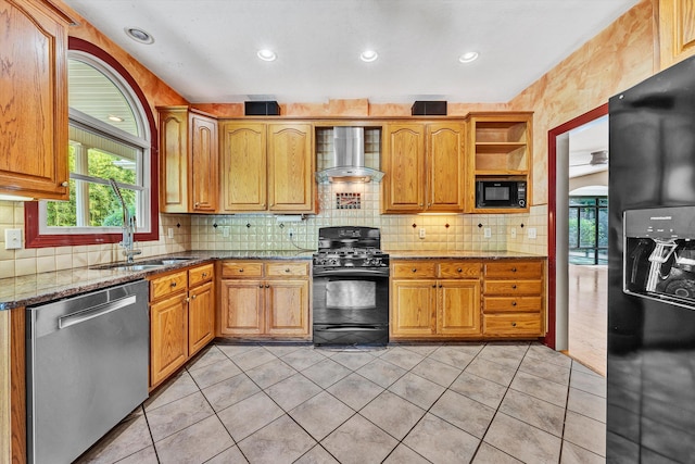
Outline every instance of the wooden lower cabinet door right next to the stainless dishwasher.
{"type": "Polygon", "coordinates": [[[150,305],[150,386],[188,360],[188,302],[180,293],[150,305]]]}

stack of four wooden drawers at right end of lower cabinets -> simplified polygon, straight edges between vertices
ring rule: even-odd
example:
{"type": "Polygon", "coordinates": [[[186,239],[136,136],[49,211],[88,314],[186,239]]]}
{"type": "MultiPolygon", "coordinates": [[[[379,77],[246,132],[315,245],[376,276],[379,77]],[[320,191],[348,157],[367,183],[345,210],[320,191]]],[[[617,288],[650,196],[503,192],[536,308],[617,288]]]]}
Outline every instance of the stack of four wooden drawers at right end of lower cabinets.
{"type": "Polygon", "coordinates": [[[544,281],[542,260],[484,263],[483,336],[544,336],[544,281]]]}

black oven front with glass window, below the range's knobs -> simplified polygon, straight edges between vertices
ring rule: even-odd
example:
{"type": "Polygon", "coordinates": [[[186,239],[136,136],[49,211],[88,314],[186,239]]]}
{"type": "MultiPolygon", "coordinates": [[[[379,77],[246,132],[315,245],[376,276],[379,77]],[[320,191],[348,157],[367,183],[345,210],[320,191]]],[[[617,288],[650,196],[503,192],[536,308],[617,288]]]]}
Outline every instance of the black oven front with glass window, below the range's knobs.
{"type": "Polygon", "coordinates": [[[338,268],[314,273],[315,344],[388,341],[388,272],[338,268]]]}

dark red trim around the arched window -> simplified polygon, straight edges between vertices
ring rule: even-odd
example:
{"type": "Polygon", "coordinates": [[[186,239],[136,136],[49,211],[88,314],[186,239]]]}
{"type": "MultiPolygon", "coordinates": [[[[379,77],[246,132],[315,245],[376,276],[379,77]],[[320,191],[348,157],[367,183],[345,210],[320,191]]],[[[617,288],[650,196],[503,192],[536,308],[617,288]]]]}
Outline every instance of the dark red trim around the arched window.
{"type": "MultiPolygon", "coordinates": [[[[118,63],[111,54],[101,48],[77,37],[68,37],[67,45],[70,50],[79,50],[92,54],[113,67],[128,83],[132,91],[136,93],[150,125],[151,147],[150,147],[150,211],[151,211],[151,231],[138,233],[135,239],[138,241],[153,241],[160,239],[160,203],[157,195],[159,185],[159,167],[157,167],[157,131],[154,124],[154,115],[150,109],[148,99],[121,63],[118,63]]],[[[29,201],[24,203],[24,224],[26,227],[25,247],[26,248],[47,248],[47,247],[70,247],[78,244],[100,244],[100,243],[117,243],[123,239],[122,234],[56,234],[56,235],[39,235],[39,203],[38,201],[29,201]]]]}

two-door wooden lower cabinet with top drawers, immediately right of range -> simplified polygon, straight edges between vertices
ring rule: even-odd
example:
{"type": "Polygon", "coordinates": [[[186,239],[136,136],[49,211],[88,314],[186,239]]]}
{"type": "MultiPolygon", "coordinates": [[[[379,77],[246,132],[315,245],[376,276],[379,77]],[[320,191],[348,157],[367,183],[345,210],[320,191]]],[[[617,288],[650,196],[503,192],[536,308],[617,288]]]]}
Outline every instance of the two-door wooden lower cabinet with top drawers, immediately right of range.
{"type": "Polygon", "coordinates": [[[480,337],[479,262],[391,266],[391,339],[480,337]]]}

